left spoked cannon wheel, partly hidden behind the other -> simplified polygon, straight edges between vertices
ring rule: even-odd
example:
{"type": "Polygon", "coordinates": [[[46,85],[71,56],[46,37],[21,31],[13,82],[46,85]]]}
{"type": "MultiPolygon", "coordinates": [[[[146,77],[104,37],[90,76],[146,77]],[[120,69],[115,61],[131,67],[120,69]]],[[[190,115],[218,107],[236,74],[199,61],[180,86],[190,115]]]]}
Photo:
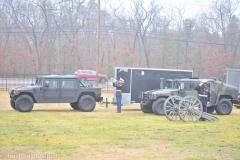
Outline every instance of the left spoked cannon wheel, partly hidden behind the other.
{"type": "Polygon", "coordinates": [[[180,120],[178,116],[178,105],[181,99],[182,97],[180,96],[170,96],[166,99],[164,103],[164,113],[168,120],[180,120]]]}

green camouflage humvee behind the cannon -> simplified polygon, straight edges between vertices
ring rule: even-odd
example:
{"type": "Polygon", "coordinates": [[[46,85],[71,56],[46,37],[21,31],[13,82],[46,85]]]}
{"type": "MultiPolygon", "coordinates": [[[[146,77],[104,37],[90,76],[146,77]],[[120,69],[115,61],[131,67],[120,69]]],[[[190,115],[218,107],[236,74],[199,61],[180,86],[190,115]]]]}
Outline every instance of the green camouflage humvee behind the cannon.
{"type": "Polygon", "coordinates": [[[154,112],[156,115],[164,115],[164,102],[169,96],[185,97],[190,95],[198,97],[198,92],[194,88],[202,82],[206,83],[210,89],[207,112],[216,111],[219,115],[230,114],[232,104],[238,103],[238,89],[212,78],[161,80],[162,89],[139,93],[141,109],[144,113],[154,112]]]}

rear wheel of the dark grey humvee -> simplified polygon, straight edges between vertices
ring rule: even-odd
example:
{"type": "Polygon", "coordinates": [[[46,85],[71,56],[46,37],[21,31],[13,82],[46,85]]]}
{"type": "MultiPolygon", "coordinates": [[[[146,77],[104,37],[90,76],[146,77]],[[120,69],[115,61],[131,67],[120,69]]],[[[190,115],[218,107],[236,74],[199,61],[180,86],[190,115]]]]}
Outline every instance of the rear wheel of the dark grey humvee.
{"type": "Polygon", "coordinates": [[[78,109],[83,112],[91,112],[95,109],[96,101],[90,95],[84,95],[78,100],[78,109]]]}

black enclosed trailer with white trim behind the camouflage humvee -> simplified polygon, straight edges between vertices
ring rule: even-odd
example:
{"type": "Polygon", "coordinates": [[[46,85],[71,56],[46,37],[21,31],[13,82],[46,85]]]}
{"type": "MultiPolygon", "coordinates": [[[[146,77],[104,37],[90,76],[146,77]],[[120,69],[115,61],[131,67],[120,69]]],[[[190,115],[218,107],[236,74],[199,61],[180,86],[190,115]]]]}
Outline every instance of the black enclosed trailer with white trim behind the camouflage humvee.
{"type": "MultiPolygon", "coordinates": [[[[192,70],[115,67],[115,79],[124,79],[122,103],[140,103],[140,91],[160,89],[160,79],[192,78],[192,70]]],[[[114,89],[115,93],[116,88],[114,89]]],[[[115,96],[114,96],[114,102],[115,96]]]]}

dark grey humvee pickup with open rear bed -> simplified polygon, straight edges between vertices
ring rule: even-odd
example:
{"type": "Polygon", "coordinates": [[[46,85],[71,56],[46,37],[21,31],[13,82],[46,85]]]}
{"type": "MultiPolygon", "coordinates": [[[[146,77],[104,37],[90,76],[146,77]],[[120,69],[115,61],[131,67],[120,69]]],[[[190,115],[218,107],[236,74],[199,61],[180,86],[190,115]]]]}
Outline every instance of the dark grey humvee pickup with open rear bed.
{"type": "Polygon", "coordinates": [[[75,75],[47,75],[35,84],[9,89],[11,107],[29,112],[34,103],[70,103],[75,110],[91,112],[101,102],[101,88],[85,86],[75,75]]]}

